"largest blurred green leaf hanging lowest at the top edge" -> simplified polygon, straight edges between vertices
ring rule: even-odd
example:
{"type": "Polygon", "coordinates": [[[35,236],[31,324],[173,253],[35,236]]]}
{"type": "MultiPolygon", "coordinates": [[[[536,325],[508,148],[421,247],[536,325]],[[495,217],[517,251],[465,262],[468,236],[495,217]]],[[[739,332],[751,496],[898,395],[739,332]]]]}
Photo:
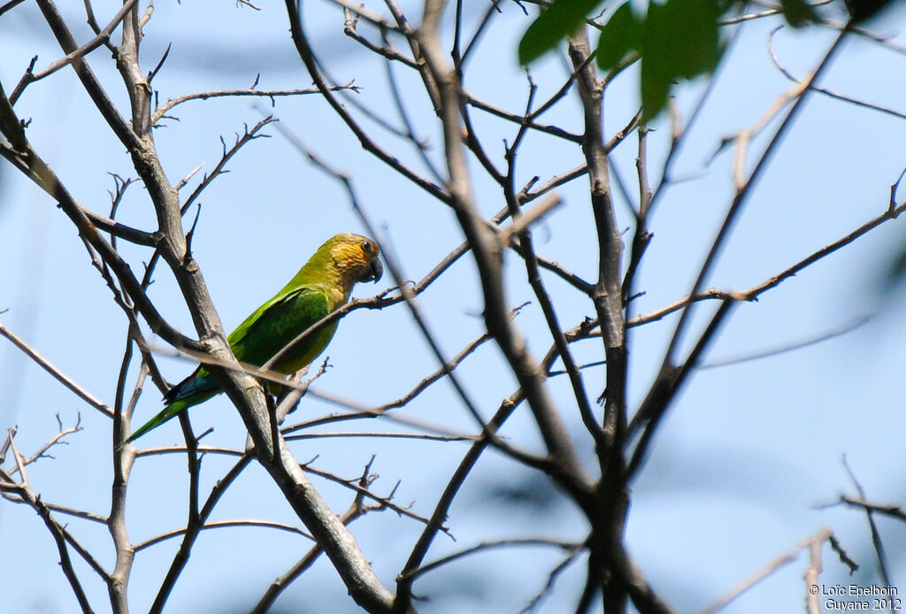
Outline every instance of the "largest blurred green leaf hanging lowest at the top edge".
{"type": "Polygon", "coordinates": [[[716,0],[651,3],[641,28],[642,119],[667,106],[673,82],[710,74],[723,54],[718,20],[727,4],[716,0]]]}

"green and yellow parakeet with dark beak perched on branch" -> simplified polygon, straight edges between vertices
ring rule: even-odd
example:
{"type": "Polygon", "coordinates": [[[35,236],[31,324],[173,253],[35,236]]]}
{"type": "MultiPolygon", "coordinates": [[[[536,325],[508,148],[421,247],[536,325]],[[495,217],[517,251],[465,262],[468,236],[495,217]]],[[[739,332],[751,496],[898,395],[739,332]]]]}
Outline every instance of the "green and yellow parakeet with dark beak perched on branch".
{"type": "MultiPolygon", "coordinates": [[[[260,367],[316,321],[349,301],[352,287],[359,282],[381,279],[383,267],[378,244],[371,239],[345,233],[332,236],[318,248],[274,298],[258,307],[229,336],[236,359],[260,367]]],[[[333,322],[315,333],[272,367],[289,375],[316,359],[337,329],[333,322]]],[[[223,392],[207,367],[199,365],[188,378],[169,389],[167,407],[152,417],[125,441],[123,446],[157,428],[180,411],[223,392]]]]}

